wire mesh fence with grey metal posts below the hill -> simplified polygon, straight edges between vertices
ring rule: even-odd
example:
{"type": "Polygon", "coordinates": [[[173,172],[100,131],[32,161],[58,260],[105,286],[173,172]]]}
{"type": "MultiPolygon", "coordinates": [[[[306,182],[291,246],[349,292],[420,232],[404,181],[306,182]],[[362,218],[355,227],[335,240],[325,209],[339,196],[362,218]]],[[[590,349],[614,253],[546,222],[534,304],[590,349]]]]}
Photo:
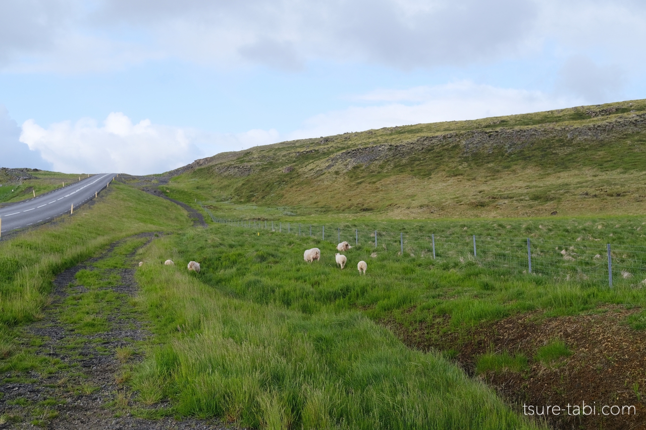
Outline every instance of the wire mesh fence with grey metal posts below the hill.
{"type": "Polygon", "coordinates": [[[508,238],[459,234],[421,234],[349,229],[331,225],[267,220],[224,220],[203,207],[216,223],[311,236],[331,243],[371,247],[410,258],[427,259],[439,267],[471,263],[509,272],[545,276],[555,282],[646,287],[646,247],[543,238],[508,238]]]}

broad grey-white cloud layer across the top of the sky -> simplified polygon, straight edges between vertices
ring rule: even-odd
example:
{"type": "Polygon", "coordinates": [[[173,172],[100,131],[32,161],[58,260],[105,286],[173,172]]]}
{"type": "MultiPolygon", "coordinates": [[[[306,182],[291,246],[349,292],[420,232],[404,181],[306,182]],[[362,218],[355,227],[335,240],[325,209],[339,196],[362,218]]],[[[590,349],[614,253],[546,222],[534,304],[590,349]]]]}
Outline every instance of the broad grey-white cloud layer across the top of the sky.
{"type": "Polygon", "coordinates": [[[540,54],[546,43],[642,64],[634,54],[644,37],[637,0],[0,3],[0,65],[11,70],[114,70],[169,57],[290,70],[311,59],[462,66],[540,54]]]}

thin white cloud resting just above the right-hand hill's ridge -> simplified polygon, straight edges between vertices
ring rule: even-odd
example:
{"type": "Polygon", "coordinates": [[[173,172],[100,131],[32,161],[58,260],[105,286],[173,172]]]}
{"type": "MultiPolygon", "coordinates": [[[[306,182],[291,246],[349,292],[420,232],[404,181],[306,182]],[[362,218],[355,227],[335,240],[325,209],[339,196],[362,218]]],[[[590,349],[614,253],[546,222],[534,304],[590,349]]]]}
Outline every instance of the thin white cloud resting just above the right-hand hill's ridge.
{"type": "Polygon", "coordinates": [[[349,107],[313,116],[305,121],[303,128],[292,132],[289,138],[329,136],[370,128],[477,119],[581,105],[581,99],[576,97],[477,85],[470,81],[406,90],[376,90],[353,98],[384,103],[349,107]]]}

